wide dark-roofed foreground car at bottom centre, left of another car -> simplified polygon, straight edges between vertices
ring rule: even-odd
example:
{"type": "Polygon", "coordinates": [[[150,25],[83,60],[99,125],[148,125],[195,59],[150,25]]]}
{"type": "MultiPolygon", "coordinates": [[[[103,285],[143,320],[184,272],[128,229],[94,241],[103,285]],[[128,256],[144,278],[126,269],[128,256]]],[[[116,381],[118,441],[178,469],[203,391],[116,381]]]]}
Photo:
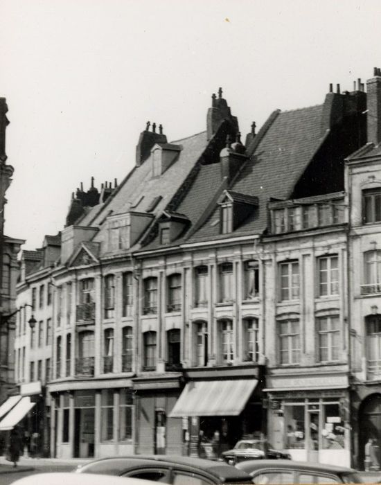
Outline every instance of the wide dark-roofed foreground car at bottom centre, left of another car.
{"type": "Polygon", "coordinates": [[[103,458],[78,467],[76,473],[118,475],[174,485],[252,484],[248,473],[222,461],[167,455],[103,458]]]}

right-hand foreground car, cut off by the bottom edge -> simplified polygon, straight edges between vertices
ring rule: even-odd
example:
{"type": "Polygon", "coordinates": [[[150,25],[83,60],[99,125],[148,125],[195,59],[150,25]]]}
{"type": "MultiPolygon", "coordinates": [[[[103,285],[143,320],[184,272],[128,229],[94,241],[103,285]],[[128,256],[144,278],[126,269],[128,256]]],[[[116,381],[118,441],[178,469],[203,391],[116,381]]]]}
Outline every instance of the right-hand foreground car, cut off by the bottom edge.
{"type": "Polygon", "coordinates": [[[254,484],[361,484],[356,470],[342,466],[292,460],[242,461],[236,468],[253,477],[254,484]]]}

